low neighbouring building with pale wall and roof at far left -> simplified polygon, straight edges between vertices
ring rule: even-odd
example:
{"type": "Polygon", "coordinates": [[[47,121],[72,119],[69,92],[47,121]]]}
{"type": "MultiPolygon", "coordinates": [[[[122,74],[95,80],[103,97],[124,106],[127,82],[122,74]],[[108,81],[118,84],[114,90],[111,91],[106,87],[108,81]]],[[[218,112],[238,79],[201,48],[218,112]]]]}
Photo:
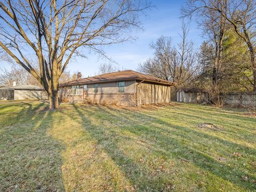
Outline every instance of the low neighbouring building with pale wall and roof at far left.
{"type": "Polygon", "coordinates": [[[0,87],[0,100],[46,100],[48,96],[43,87],[35,85],[16,85],[0,87]]]}

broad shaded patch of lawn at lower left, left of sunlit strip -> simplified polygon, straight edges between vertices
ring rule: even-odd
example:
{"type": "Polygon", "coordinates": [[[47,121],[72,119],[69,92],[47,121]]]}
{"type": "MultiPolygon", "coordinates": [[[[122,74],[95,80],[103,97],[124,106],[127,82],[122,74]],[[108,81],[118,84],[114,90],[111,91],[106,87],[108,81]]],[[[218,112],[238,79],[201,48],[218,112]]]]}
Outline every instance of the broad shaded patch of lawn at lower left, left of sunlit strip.
{"type": "Polygon", "coordinates": [[[63,191],[63,147],[47,134],[54,111],[42,112],[49,107],[43,102],[13,107],[15,113],[0,119],[0,190],[63,191]]]}

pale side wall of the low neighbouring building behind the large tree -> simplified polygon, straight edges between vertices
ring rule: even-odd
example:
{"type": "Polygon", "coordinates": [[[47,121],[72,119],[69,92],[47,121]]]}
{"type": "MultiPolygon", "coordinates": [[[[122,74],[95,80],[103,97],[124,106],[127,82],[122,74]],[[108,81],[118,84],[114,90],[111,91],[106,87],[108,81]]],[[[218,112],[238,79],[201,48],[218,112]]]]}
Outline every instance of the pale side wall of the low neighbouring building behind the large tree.
{"type": "Polygon", "coordinates": [[[45,91],[14,90],[14,100],[47,100],[45,91]]]}

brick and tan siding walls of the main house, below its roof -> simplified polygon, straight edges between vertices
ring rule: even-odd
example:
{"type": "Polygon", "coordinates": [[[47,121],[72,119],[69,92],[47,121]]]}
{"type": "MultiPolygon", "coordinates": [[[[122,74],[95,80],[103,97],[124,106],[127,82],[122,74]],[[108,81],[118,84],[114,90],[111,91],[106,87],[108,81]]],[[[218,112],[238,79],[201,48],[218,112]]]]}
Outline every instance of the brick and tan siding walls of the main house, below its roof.
{"type": "Polygon", "coordinates": [[[141,81],[126,81],[125,92],[118,93],[118,82],[98,83],[98,93],[94,93],[93,84],[87,84],[87,92],[80,89],[79,95],[71,95],[71,89],[59,92],[60,100],[65,102],[90,102],[104,105],[141,106],[150,103],[171,101],[170,85],[141,81]],[[69,93],[69,94],[67,94],[69,93]],[[66,96],[64,96],[66,95],[66,96]]]}

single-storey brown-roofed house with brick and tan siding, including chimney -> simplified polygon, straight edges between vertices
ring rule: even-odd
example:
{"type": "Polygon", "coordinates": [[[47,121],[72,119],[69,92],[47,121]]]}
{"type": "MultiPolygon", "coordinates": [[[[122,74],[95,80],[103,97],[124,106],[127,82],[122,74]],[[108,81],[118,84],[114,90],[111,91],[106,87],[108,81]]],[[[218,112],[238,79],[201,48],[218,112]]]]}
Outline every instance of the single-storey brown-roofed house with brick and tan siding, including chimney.
{"type": "Polygon", "coordinates": [[[171,87],[175,83],[157,77],[123,70],[114,73],[81,78],[60,85],[60,99],[69,102],[140,106],[171,101],[171,87]]]}

